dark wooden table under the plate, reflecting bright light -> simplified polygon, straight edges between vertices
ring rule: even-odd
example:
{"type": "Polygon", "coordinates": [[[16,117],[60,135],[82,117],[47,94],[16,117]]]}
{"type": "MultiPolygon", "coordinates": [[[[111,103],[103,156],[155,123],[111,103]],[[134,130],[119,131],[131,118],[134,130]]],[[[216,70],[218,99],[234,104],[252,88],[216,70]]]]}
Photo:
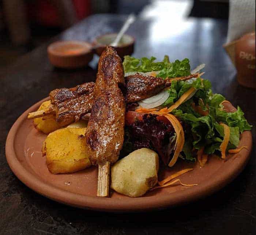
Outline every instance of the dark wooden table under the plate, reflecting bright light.
{"type": "MultiPolygon", "coordinates": [[[[117,31],[124,19],[94,15],[52,41],[91,41],[95,36],[117,31]]],[[[141,19],[128,33],[136,38],[134,56],[154,55],[159,60],[165,54],[171,60],[187,57],[192,68],[206,63],[204,78],[212,82],[212,90],[241,106],[255,126],[255,90],[238,85],[236,70],[222,48],[227,21],[141,19]]],[[[254,234],[255,147],[244,171],[221,191],[158,212],[110,214],[72,208],[38,195],[20,182],[5,159],[5,140],[12,124],[50,90],[95,80],[98,57],[88,68],[61,70],[50,65],[47,45],[0,70],[0,234],[254,234]]],[[[255,128],[252,132],[255,140],[255,128]]]]}

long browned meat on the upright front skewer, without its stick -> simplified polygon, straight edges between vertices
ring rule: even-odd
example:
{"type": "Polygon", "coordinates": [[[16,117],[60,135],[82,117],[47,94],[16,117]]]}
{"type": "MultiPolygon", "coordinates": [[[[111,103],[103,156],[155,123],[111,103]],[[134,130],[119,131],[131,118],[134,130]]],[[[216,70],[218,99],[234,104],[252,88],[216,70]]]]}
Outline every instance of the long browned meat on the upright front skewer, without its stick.
{"type": "Polygon", "coordinates": [[[124,140],[123,64],[112,47],[99,58],[94,102],[86,130],[87,153],[93,165],[117,161],[124,140]]]}

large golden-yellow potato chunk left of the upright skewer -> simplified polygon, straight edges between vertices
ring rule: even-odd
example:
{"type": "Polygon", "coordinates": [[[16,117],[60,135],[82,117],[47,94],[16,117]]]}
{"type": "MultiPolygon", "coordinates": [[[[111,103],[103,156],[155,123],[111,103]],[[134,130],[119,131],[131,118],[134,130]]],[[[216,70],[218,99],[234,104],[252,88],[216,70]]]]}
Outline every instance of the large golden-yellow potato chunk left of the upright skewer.
{"type": "MultiPolygon", "coordinates": [[[[77,125],[78,126],[78,125],[77,125]]],[[[86,153],[86,128],[66,127],[50,133],[42,147],[46,164],[53,174],[70,173],[90,167],[86,153]]]]}

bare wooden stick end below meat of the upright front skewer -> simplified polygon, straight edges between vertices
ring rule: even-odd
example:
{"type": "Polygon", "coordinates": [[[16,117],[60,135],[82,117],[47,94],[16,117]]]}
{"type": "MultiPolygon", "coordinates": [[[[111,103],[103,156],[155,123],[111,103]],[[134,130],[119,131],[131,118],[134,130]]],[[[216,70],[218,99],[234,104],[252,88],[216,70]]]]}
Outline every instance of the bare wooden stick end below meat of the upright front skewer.
{"type": "Polygon", "coordinates": [[[104,165],[99,165],[97,197],[109,196],[109,173],[110,173],[110,162],[107,161],[104,165]]]}

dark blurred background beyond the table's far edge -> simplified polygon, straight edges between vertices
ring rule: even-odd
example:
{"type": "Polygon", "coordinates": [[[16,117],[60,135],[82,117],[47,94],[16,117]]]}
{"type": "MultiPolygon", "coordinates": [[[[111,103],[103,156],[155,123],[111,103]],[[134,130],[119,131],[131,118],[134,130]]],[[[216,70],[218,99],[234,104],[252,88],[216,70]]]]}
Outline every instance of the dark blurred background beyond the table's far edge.
{"type": "Polygon", "coordinates": [[[0,0],[0,67],[92,14],[157,15],[163,5],[185,17],[229,14],[229,0],[0,0]]]}

